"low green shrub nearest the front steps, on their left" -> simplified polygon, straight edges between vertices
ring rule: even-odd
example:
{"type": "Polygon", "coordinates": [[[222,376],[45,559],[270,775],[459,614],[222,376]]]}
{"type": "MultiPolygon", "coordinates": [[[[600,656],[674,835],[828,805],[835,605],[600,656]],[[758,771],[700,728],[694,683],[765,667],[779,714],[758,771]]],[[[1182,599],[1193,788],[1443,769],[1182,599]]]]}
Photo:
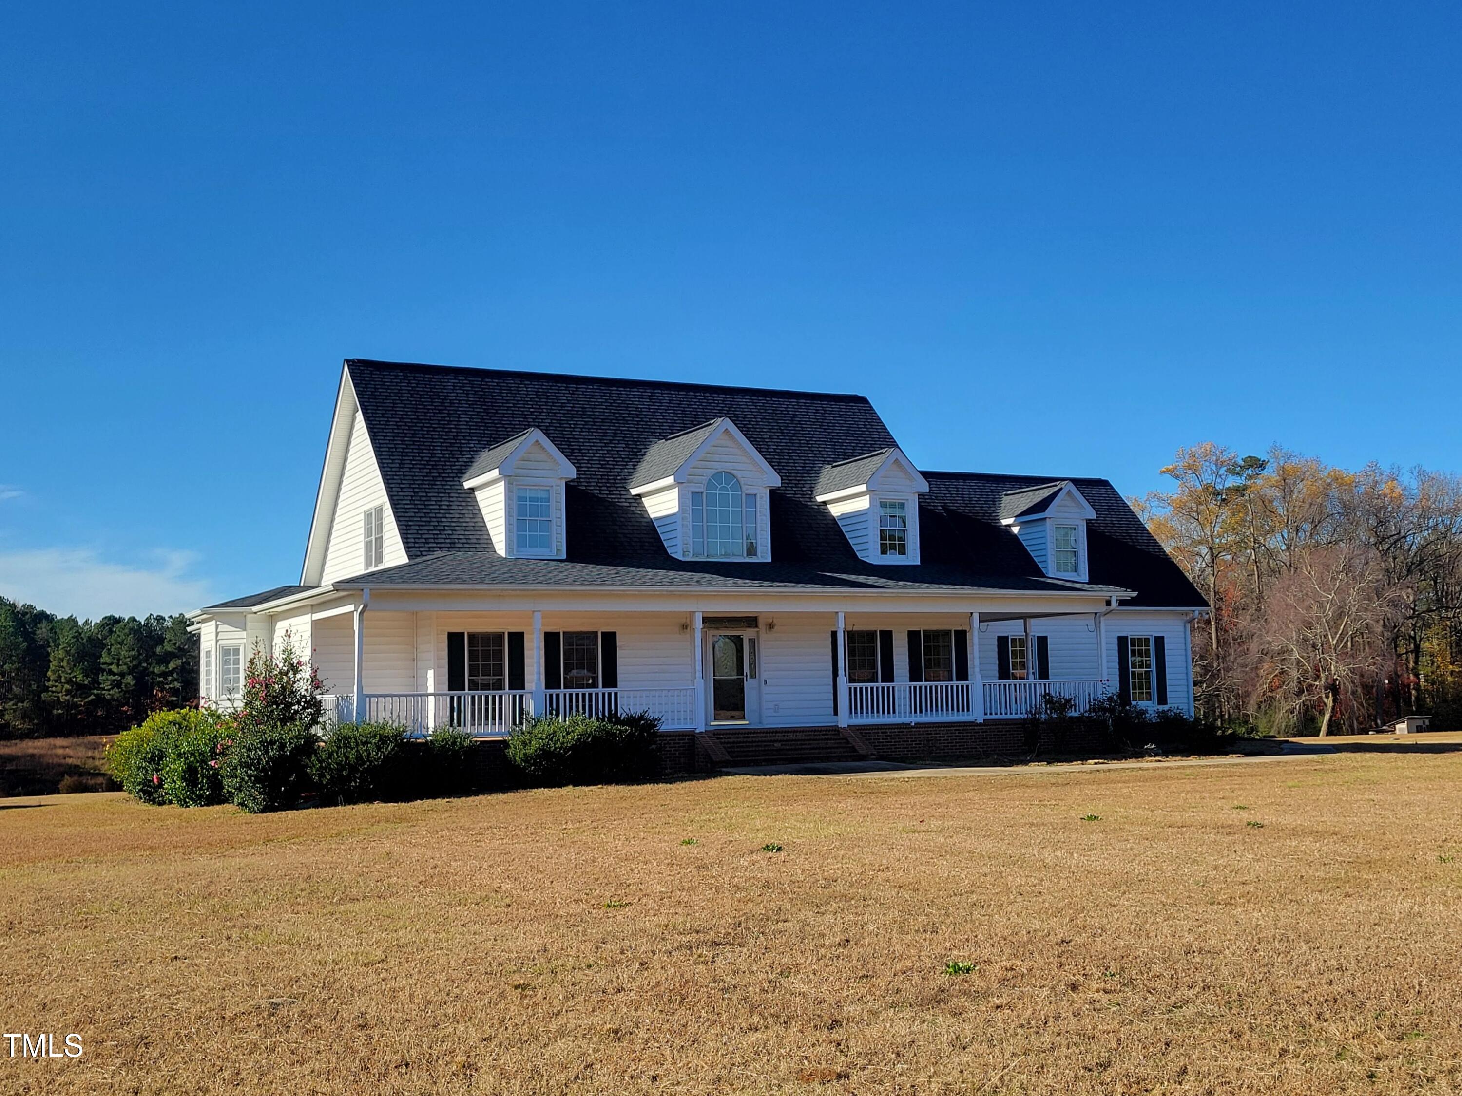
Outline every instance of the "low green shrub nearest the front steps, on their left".
{"type": "Polygon", "coordinates": [[[507,760],[542,785],[623,783],[655,775],[659,720],[646,712],[537,716],[507,739],[507,760]]]}

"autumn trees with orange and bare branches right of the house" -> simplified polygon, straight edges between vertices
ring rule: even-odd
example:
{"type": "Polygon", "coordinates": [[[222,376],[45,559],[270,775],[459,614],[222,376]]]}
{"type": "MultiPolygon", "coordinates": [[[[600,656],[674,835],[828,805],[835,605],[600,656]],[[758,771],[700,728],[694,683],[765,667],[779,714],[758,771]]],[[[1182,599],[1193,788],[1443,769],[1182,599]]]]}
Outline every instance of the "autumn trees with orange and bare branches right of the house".
{"type": "Polygon", "coordinates": [[[1203,715],[1278,734],[1462,725],[1462,481],[1282,447],[1178,450],[1135,506],[1208,598],[1203,715]]]}

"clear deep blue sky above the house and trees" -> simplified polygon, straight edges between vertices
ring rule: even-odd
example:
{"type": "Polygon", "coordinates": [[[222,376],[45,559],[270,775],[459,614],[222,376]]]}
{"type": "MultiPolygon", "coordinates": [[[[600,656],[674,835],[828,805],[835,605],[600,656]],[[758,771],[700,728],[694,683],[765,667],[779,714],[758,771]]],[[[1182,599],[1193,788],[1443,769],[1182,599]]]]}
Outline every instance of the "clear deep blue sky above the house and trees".
{"type": "Polygon", "coordinates": [[[298,579],[339,362],[868,395],[924,468],[1462,472],[1455,3],[12,4],[0,593],[298,579]],[[303,9],[308,10],[303,10],[303,9]]]}

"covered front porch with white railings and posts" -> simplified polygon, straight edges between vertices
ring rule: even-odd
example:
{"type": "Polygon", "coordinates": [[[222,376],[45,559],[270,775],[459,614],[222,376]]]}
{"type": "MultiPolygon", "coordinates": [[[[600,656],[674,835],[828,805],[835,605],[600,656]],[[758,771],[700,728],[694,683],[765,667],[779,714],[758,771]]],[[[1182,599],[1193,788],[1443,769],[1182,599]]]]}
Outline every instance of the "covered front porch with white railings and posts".
{"type": "Polygon", "coordinates": [[[649,712],[667,731],[982,722],[1025,718],[1047,693],[1082,710],[1111,688],[1099,612],[468,612],[363,599],[311,628],[333,718],[415,734],[499,737],[538,713],[649,712]]]}

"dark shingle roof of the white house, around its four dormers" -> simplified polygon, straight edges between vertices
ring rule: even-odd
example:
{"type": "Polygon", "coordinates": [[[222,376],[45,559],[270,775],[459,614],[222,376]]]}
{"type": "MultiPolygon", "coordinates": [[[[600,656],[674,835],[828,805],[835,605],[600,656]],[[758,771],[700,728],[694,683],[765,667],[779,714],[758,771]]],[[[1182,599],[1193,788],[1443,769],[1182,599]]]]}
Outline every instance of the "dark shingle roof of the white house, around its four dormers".
{"type": "Polygon", "coordinates": [[[1045,577],[1000,525],[1001,495],[1051,485],[1050,476],[927,473],[921,563],[860,560],[814,495],[830,469],[882,460],[898,444],[863,396],[355,359],[346,368],[411,560],[357,576],[352,586],[1088,589],[1137,590],[1129,604],[1203,605],[1105,479],[1072,481],[1096,509],[1088,525],[1091,585],[1045,577]],[[674,560],[630,494],[632,482],[677,468],[721,418],[735,422],[782,479],[770,491],[773,563],[674,560]],[[462,488],[484,450],[531,427],[579,472],[566,488],[563,561],[497,555],[477,500],[462,488]]]}

